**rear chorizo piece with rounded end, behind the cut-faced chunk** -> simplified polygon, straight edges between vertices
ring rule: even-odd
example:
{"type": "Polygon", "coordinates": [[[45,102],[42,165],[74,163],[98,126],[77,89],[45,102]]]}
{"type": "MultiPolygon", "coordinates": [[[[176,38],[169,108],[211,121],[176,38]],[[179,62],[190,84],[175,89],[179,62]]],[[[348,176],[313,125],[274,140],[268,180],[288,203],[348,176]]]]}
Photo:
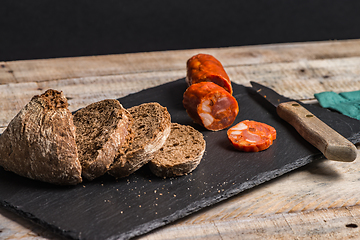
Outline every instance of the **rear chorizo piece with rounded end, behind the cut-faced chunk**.
{"type": "Polygon", "coordinates": [[[186,66],[188,86],[199,82],[213,82],[230,94],[233,93],[230,78],[215,57],[208,54],[197,54],[187,61],[186,66]]]}

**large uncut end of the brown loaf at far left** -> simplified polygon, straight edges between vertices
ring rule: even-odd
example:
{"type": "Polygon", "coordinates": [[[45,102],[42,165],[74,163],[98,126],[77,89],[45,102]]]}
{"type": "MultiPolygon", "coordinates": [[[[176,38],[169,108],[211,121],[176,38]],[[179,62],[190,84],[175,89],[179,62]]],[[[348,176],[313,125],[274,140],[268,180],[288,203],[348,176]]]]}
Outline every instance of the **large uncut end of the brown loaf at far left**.
{"type": "Polygon", "coordinates": [[[59,185],[82,181],[73,116],[62,92],[34,96],[12,119],[0,136],[0,165],[59,185]]]}

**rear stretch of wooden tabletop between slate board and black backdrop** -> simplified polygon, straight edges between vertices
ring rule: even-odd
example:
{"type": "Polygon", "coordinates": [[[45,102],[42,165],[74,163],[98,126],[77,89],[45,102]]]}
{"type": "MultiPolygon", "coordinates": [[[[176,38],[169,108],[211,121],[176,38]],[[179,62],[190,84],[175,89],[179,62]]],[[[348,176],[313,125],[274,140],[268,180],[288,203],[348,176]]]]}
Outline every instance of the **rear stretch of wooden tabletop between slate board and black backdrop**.
{"type": "Polygon", "coordinates": [[[250,80],[257,81],[293,99],[358,90],[359,46],[360,41],[353,40],[3,62],[0,127],[48,88],[64,91],[70,109],[76,110],[184,78],[184,62],[199,51],[223,59],[233,82],[249,86],[250,80]]]}

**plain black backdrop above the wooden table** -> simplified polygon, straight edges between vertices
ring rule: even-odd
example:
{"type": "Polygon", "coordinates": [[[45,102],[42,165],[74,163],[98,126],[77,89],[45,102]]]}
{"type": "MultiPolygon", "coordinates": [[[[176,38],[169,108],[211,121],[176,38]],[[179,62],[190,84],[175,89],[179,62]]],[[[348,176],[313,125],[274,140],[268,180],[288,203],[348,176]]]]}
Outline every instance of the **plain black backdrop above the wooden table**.
{"type": "Polygon", "coordinates": [[[355,0],[2,0],[0,61],[360,38],[355,0]]]}

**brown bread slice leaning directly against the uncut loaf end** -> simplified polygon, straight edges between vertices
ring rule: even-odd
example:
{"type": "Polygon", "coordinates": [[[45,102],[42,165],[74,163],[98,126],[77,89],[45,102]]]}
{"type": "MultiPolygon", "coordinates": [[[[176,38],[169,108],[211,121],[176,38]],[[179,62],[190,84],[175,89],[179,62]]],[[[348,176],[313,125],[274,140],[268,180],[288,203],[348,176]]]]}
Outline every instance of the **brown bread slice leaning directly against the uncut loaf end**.
{"type": "Polygon", "coordinates": [[[93,180],[108,171],[130,134],[132,122],[130,113],[114,99],[90,104],[74,114],[84,178],[93,180]]]}

